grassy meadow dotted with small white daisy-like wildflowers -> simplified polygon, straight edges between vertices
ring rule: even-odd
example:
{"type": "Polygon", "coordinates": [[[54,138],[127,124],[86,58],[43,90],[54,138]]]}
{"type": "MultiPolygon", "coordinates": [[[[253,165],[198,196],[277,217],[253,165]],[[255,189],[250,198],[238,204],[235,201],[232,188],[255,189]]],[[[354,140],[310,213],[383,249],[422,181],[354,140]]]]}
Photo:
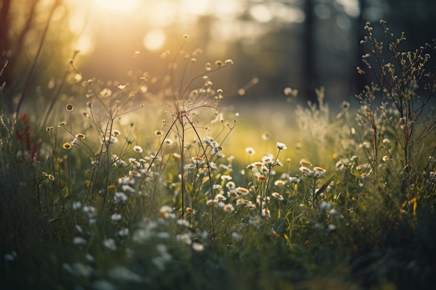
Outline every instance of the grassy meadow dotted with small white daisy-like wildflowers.
{"type": "Polygon", "coordinates": [[[238,60],[183,49],[158,81],[84,79],[72,60],[70,97],[3,104],[1,288],[434,289],[436,45],[364,29],[356,102],[285,88],[283,131],[221,110],[213,73],[238,60]]]}

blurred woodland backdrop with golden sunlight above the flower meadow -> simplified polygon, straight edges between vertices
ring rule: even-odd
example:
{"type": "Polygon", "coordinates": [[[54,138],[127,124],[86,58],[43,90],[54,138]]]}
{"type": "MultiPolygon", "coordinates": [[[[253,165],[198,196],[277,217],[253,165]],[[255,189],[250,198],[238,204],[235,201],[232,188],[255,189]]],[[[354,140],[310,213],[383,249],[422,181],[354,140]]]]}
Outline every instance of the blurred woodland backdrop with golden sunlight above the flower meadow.
{"type": "Polygon", "coordinates": [[[320,86],[328,102],[350,101],[366,81],[356,72],[364,24],[385,19],[395,35],[405,31],[404,50],[414,49],[435,38],[435,13],[432,0],[2,0],[1,64],[8,67],[1,82],[17,111],[70,94],[63,80],[75,77],[72,58],[84,79],[159,78],[187,33],[184,50],[202,50],[196,70],[235,61],[211,76],[225,104],[281,104],[286,87],[316,101],[320,86]]]}

